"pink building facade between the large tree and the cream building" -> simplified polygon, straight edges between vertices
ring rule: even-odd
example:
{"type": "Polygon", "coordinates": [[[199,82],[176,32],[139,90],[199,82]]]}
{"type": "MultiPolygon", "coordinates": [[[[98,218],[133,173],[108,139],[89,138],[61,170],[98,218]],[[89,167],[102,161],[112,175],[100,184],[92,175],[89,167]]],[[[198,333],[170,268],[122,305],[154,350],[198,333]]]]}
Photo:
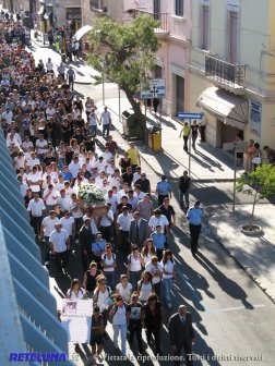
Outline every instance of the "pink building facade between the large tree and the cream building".
{"type": "Polygon", "coordinates": [[[156,35],[162,47],[155,58],[152,77],[165,78],[166,97],[162,108],[167,115],[189,109],[189,54],[191,40],[191,0],[140,0],[139,12],[159,21],[156,35]]]}

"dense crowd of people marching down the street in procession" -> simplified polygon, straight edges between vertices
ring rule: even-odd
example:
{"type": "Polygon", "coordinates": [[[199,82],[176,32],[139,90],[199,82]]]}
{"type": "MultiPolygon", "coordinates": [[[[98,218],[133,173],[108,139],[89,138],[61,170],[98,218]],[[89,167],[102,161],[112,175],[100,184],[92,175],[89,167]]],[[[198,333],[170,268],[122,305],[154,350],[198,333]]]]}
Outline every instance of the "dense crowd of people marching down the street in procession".
{"type": "MultiPolygon", "coordinates": [[[[162,354],[163,307],[172,307],[176,279],[176,261],[168,248],[170,230],[177,224],[171,185],[163,175],[155,205],[135,144],[119,154],[108,108],[98,114],[92,98],[83,103],[68,85],[69,75],[55,73],[50,59],[36,64],[24,48],[23,35],[20,21],[2,21],[0,117],[29,222],[45,252],[44,264],[56,268],[56,276],[64,276],[70,252],[80,251],[83,279],[72,281],[67,296],[94,300],[94,354],[103,350],[108,318],[115,347],[120,333],[122,355],[128,330],[130,345],[135,334],[143,352],[143,325],[147,344],[154,335],[155,351],[162,354]],[[96,141],[100,125],[106,138],[103,151],[96,141]],[[80,187],[89,184],[100,190],[107,205],[99,217],[77,196],[80,187]],[[120,274],[118,264],[123,263],[120,274]]],[[[186,191],[182,197],[189,208],[187,178],[180,190],[186,191]]],[[[176,355],[182,346],[191,352],[194,338],[186,307],[180,307],[178,317],[187,340],[178,343],[171,321],[176,355]]]]}

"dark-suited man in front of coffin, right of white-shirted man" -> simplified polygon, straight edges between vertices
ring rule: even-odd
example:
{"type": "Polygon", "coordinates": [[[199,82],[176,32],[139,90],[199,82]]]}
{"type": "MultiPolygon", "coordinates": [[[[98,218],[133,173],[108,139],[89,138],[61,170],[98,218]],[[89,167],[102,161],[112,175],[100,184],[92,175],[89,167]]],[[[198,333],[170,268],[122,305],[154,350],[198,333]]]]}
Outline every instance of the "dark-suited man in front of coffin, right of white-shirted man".
{"type": "Polygon", "coordinates": [[[91,218],[86,217],[84,220],[84,224],[82,225],[80,230],[80,247],[81,247],[81,257],[82,257],[82,265],[84,271],[88,269],[88,265],[92,257],[92,242],[93,242],[94,235],[92,233],[91,228],[91,218]]]}

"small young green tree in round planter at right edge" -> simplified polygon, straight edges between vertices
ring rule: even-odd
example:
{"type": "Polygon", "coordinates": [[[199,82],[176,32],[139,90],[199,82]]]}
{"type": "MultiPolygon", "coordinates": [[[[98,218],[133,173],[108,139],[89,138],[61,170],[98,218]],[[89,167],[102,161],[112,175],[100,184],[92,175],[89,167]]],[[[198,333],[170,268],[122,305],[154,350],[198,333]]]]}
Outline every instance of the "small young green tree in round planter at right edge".
{"type": "Polygon", "coordinates": [[[256,203],[275,195],[275,167],[263,164],[258,167],[254,172],[241,175],[237,179],[236,191],[253,197],[249,222],[249,230],[252,231],[256,203]]]}

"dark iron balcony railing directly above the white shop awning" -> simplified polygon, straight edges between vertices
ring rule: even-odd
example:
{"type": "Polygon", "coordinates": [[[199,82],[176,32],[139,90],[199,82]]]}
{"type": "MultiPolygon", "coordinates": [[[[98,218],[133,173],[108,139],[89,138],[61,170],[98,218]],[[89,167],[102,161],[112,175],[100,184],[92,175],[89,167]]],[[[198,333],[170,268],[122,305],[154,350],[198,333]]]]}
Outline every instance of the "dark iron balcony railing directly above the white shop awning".
{"type": "Polygon", "coordinates": [[[229,63],[214,56],[205,56],[205,76],[229,86],[244,86],[246,65],[229,63]]]}

